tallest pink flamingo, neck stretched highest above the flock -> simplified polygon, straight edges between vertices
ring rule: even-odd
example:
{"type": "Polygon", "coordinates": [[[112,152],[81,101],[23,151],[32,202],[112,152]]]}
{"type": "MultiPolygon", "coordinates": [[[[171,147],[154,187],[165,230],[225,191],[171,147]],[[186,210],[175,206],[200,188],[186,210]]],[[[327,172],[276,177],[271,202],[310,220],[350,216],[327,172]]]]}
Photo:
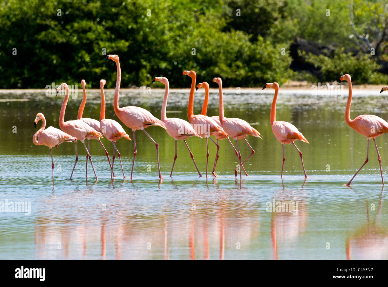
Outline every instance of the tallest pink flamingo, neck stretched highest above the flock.
{"type": "Polygon", "coordinates": [[[117,80],[116,80],[116,89],[114,90],[114,101],[113,101],[113,109],[116,113],[117,117],[122,121],[128,128],[132,129],[133,132],[133,161],[132,161],[132,170],[131,170],[131,179],[133,173],[133,165],[135,164],[135,157],[137,154],[136,150],[136,138],[135,131],[140,129],[144,131],[147,137],[152,140],[156,147],[156,158],[158,159],[158,170],[159,170],[159,179],[163,179],[162,174],[160,173],[160,165],[159,165],[159,145],[154,141],[153,138],[144,130],[149,126],[160,126],[166,129],[166,125],[164,122],[154,117],[149,111],[140,107],[119,107],[119,93],[120,93],[120,82],[121,82],[121,68],[120,68],[120,58],[117,55],[108,55],[105,58],[111,59],[116,63],[117,67],[117,80]]]}

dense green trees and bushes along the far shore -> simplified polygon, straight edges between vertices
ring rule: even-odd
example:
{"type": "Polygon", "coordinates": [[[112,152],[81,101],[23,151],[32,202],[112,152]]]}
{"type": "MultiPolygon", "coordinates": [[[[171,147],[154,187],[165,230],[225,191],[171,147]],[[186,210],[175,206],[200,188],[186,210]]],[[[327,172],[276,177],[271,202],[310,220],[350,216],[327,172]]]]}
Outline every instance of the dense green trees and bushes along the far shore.
{"type": "Polygon", "coordinates": [[[0,88],[81,79],[97,87],[101,78],[113,87],[105,50],[120,56],[123,87],[161,75],[173,87],[188,86],[182,70],[196,70],[199,80],[220,76],[225,86],[331,81],[343,73],[387,84],[385,2],[354,0],[350,9],[342,0],[5,0],[0,88]],[[320,55],[300,51],[319,77],[291,70],[297,37],[330,47],[320,55]]]}

